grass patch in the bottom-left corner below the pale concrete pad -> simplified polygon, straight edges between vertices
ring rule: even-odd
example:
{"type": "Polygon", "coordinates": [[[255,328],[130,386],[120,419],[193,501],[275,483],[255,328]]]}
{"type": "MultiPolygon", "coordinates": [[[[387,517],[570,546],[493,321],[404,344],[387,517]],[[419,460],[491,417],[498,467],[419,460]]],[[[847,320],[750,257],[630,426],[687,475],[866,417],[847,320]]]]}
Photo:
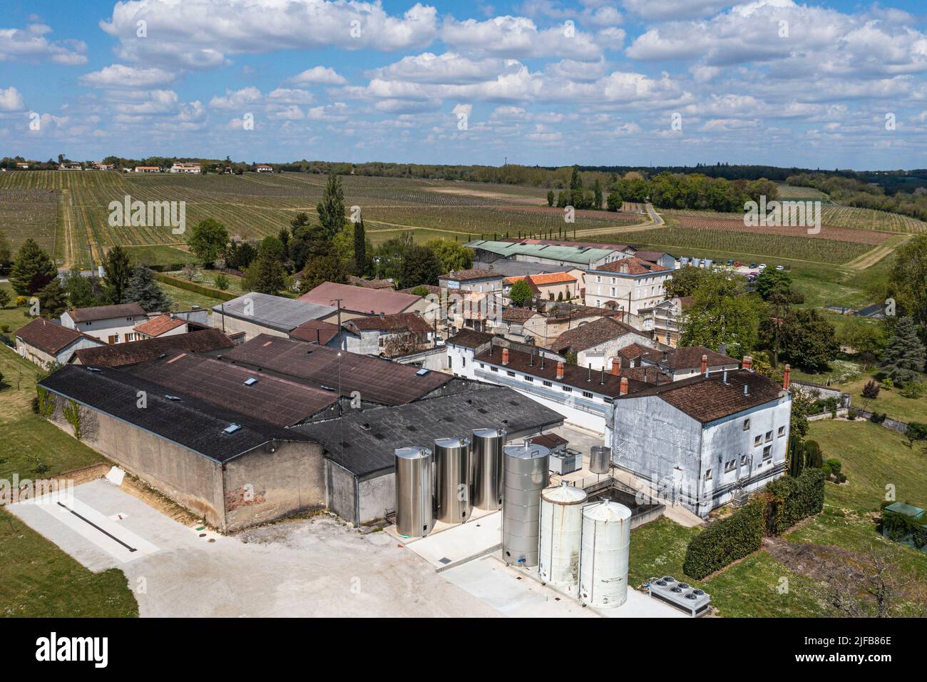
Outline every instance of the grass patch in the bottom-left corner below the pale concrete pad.
{"type": "Polygon", "coordinates": [[[138,615],[125,573],[92,573],[0,509],[0,616],[114,618],[138,615]]]}

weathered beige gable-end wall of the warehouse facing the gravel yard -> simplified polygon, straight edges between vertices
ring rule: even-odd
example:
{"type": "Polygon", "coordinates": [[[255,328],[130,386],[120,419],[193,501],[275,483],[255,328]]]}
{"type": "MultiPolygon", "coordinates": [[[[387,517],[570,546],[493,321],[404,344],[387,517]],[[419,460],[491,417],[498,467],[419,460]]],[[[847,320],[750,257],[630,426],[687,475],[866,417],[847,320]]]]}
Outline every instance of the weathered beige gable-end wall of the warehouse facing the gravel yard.
{"type": "Polygon", "coordinates": [[[223,467],[226,531],[325,506],[322,445],[278,443],[235,457],[223,467]]]}

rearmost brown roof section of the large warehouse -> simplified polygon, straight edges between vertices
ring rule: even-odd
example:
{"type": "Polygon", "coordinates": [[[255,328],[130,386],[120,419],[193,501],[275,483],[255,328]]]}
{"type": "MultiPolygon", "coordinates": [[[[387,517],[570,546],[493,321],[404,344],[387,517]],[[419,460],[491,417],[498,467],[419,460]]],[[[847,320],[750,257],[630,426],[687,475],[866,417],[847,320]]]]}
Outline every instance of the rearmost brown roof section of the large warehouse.
{"type": "Polygon", "coordinates": [[[371,355],[342,352],[339,357],[336,348],[269,334],[242,343],[222,360],[333,392],[340,383],[342,395],[357,391],[363,401],[381,405],[411,403],[451,380],[449,374],[420,375],[418,367],[371,355]]]}

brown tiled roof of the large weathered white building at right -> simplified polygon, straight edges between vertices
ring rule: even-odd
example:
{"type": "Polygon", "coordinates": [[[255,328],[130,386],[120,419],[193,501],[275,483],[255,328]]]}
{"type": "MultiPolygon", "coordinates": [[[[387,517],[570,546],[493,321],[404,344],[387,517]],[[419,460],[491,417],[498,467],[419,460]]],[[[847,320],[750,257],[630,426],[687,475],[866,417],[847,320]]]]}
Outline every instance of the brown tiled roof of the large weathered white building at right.
{"type": "Polygon", "coordinates": [[[690,417],[706,423],[730,417],[751,407],[766,405],[787,395],[775,381],[747,369],[731,369],[727,376],[728,382],[724,383],[723,372],[709,374],[707,378],[700,374],[697,377],[654,386],[619,400],[658,395],[690,417]],[[746,395],[743,393],[744,386],[748,391],[746,395]]]}

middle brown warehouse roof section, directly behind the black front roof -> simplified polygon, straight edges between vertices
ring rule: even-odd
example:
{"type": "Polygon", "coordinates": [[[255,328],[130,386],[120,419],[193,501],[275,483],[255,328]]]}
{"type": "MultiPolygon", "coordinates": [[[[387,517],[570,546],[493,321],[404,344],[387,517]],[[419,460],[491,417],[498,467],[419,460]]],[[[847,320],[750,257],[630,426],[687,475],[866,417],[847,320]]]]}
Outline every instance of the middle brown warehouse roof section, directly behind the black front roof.
{"type": "Polygon", "coordinates": [[[163,386],[251,415],[277,426],[292,426],[337,404],[333,392],[252,372],[206,355],[173,353],[124,370],[163,386]],[[257,381],[246,384],[245,381],[257,381]]]}

